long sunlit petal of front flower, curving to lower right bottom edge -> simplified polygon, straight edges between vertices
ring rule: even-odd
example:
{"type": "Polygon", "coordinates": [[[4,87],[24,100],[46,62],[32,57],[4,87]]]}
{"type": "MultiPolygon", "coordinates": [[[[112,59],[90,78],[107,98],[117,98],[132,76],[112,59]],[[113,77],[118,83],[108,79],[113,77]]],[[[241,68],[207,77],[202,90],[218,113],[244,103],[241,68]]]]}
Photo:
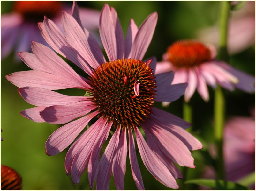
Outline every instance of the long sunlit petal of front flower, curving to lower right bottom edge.
{"type": "Polygon", "coordinates": [[[177,185],[172,174],[148,147],[139,129],[135,127],[134,130],[136,134],[137,145],[139,147],[139,153],[147,170],[155,177],[156,180],[165,186],[177,189],[179,186],[177,185]]]}

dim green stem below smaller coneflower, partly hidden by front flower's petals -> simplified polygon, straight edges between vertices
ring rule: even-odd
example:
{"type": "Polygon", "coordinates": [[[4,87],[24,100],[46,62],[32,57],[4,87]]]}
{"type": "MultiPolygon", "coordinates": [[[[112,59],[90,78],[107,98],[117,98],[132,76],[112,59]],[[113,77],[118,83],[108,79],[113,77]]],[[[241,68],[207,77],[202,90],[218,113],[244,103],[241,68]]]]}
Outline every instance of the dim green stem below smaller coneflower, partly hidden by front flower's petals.
{"type": "MultiPolygon", "coordinates": [[[[192,107],[190,103],[186,103],[185,101],[183,102],[183,119],[189,123],[192,123],[192,107]]],[[[191,133],[192,127],[186,130],[191,133]]],[[[181,190],[186,190],[185,181],[187,180],[187,173],[188,173],[188,168],[183,167],[182,169],[183,180],[180,188],[181,190]]]]}

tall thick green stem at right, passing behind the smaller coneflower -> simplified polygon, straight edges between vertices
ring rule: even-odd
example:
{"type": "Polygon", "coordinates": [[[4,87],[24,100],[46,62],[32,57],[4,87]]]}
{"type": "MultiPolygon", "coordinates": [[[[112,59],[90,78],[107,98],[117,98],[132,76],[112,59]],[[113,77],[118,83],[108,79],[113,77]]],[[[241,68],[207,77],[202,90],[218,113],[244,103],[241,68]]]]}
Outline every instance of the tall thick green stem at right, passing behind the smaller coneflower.
{"type": "MultiPolygon", "coordinates": [[[[228,19],[230,13],[230,2],[222,1],[219,17],[219,59],[228,62],[227,34],[228,19]]],[[[224,161],[223,161],[223,127],[225,119],[225,99],[222,89],[218,86],[215,90],[214,106],[214,138],[217,147],[217,178],[225,179],[224,161]]]]}

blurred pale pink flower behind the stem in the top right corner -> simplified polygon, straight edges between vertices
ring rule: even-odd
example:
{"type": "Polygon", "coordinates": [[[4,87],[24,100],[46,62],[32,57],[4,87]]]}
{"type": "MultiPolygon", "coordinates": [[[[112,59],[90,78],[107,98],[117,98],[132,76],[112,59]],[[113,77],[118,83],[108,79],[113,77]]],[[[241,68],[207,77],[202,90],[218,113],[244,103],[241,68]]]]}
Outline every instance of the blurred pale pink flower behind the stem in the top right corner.
{"type": "MultiPolygon", "coordinates": [[[[219,32],[217,25],[201,29],[197,38],[202,42],[218,47],[219,32]]],[[[231,11],[228,29],[228,52],[236,54],[250,46],[255,46],[255,1],[246,1],[239,11],[231,11]]]]}

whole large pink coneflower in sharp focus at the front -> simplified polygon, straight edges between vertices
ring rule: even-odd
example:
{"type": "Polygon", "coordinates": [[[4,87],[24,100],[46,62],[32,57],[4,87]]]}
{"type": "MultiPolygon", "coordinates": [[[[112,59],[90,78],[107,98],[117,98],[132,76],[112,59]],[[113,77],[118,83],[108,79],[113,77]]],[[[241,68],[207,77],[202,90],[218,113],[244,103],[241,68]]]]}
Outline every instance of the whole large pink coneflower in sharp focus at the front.
{"type": "MultiPolygon", "coordinates": [[[[77,14],[73,15],[79,15],[77,7],[74,10],[77,14]]],[[[139,29],[131,19],[124,39],[116,10],[106,4],[100,15],[99,31],[109,61],[105,60],[95,39],[79,25],[79,17],[63,13],[65,36],[50,19],[45,18],[43,23],[39,23],[44,39],[57,53],[82,68],[89,78],[79,76],[51,49],[36,42],[32,42],[34,54],[19,53],[34,71],[6,76],[20,87],[19,94],[26,102],[37,106],[22,111],[21,115],[35,122],[67,123],[48,138],[45,144],[48,155],[63,151],[90,120],[96,119],[67,152],[65,169],[67,174],[71,174],[74,184],[80,181],[88,166],[91,188],[97,179],[96,189],[108,190],[113,173],[117,189],[123,190],[129,147],[133,179],[138,189],[144,189],[132,131],[143,163],[165,186],[178,188],[175,179],[182,177],[173,162],[195,167],[189,150],[201,149],[202,145],[184,130],[190,124],[153,107],[155,101],[178,99],[187,86],[186,83],[170,85],[172,72],[154,75],[154,57],[142,61],[157,18],[156,12],[150,14],[139,29]],[[64,88],[84,89],[91,96],[67,96],[51,91],[64,88]],[[81,118],[72,121],[78,117],[81,118]],[[144,130],[147,142],[139,127],[144,130]],[[100,158],[110,130],[114,134],[100,158]]]]}

